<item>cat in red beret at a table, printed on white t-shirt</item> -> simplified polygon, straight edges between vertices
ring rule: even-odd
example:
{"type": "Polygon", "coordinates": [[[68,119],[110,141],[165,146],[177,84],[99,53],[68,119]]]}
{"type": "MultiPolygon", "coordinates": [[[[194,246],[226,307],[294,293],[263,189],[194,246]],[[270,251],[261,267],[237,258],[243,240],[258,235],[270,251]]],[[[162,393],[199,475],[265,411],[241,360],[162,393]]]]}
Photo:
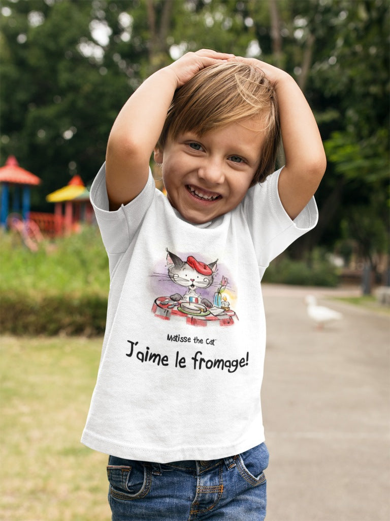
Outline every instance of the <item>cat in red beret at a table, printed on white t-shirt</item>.
{"type": "Polygon", "coordinates": [[[166,252],[165,271],[153,274],[164,290],[153,303],[154,315],[165,320],[175,317],[192,326],[233,325],[238,320],[231,308],[234,291],[226,274],[217,275],[223,271],[218,269],[218,259],[206,264],[199,255],[188,255],[183,261],[166,252]]]}

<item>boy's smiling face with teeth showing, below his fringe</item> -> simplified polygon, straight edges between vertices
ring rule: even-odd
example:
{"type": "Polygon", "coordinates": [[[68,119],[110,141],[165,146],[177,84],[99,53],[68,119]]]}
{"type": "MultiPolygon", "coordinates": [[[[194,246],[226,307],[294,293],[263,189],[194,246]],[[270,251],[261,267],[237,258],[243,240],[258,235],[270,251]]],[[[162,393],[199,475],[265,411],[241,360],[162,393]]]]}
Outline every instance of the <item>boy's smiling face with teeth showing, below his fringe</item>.
{"type": "Polygon", "coordinates": [[[168,138],[154,159],[162,164],[168,200],[186,220],[211,221],[236,208],[256,172],[265,139],[259,119],[244,119],[211,130],[168,138]]]}

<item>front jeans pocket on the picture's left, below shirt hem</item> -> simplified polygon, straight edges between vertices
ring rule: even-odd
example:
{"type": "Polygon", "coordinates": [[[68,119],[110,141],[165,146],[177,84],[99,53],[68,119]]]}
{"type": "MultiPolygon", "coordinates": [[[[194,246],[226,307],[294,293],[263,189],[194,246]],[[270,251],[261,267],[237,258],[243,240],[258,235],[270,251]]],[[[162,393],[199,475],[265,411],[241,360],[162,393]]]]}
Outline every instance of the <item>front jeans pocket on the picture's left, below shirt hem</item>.
{"type": "MultiPolygon", "coordinates": [[[[125,465],[113,465],[110,456],[107,466],[107,477],[110,483],[109,495],[112,498],[129,501],[145,498],[152,483],[152,467],[147,463],[123,460],[125,465]]],[[[115,461],[115,463],[118,463],[115,461]]]]}

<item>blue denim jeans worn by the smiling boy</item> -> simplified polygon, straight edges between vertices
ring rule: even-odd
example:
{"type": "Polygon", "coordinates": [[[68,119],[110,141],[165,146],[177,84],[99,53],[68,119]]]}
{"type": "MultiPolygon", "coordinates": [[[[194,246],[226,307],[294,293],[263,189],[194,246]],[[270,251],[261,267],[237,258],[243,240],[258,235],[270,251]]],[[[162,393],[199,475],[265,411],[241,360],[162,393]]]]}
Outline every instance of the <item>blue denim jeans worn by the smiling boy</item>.
{"type": "Polygon", "coordinates": [[[166,464],[110,456],[112,521],[263,521],[265,443],[237,456],[166,464]]]}

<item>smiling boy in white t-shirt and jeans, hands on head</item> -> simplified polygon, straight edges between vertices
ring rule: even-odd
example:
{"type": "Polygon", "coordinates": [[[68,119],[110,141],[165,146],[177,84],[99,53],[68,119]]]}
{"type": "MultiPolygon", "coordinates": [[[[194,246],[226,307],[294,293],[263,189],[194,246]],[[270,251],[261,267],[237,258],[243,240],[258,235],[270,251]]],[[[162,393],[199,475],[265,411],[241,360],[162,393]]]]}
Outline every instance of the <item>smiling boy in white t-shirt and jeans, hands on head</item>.
{"type": "Polygon", "coordinates": [[[116,118],[91,190],[111,284],[82,438],[110,454],[114,521],[264,519],[260,281],[315,226],[325,167],[300,89],[255,59],[188,53],[116,118]]]}

